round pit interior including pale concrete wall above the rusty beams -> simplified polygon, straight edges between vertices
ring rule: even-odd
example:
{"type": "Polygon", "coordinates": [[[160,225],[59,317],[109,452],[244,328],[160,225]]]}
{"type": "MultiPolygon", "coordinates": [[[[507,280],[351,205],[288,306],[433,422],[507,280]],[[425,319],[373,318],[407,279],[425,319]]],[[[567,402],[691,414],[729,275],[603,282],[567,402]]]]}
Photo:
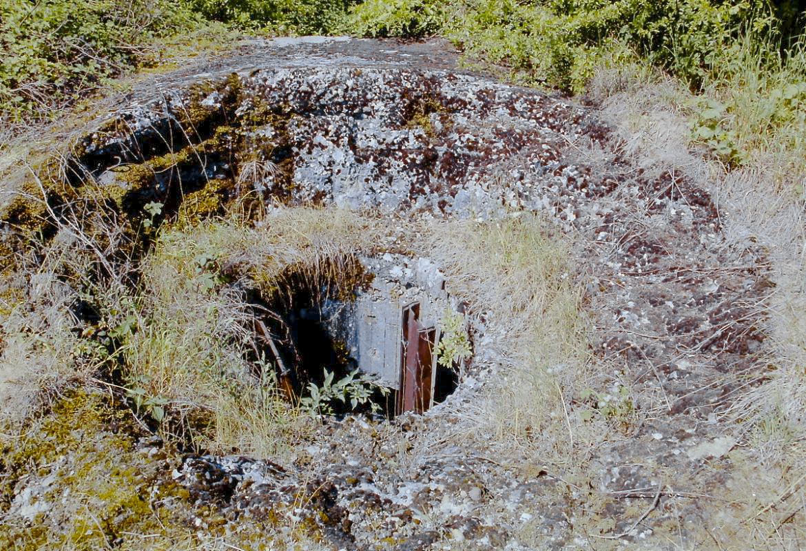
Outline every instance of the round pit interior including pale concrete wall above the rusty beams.
{"type": "MultiPolygon", "coordinates": [[[[310,383],[321,387],[326,372],[338,380],[357,370],[377,385],[371,400],[392,418],[425,412],[455,391],[466,358],[439,357],[442,320],[456,309],[434,263],[351,256],[317,271],[287,268],[271,305],[277,316],[259,329],[289,396],[304,396],[310,383]]],[[[351,411],[342,409],[337,414],[351,411]]]]}

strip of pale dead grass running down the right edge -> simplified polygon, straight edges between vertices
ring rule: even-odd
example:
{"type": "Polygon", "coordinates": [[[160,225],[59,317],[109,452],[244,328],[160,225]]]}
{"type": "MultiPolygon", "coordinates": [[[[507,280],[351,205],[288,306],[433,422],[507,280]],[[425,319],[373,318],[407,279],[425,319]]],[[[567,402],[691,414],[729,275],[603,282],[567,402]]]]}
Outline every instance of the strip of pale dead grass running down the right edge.
{"type": "MultiPolygon", "coordinates": [[[[699,529],[713,549],[799,549],[806,537],[804,488],[802,202],[790,193],[772,194],[780,177],[775,155],[754,166],[726,170],[703,160],[688,144],[688,92],[657,77],[614,83],[600,73],[598,104],[617,124],[625,154],[645,170],[675,167],[696,181],[709,182],[717,197],[729,243],[759,242],[773,266],[775,292],[759,308],[770,314],[761,374],[735,373],[739,392],[719,408],[715,421],[736,438],[729,452],[730,481],[704,492],[719,512],[699,529]]],[[[618,80],[618,79],[616,79],[618,80]]],[[[789,173],[788,181],[802,175],[789,173]]],[[[675,545],[675,548],[681,545],[675,545]]]]}

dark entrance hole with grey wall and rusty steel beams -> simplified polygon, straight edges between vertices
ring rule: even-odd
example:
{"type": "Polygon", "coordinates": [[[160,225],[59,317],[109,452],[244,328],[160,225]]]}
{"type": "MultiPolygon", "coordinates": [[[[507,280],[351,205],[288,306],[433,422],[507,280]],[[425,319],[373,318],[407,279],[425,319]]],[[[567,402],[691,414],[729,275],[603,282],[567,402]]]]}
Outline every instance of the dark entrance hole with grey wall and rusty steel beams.
{"type": "Polygon", "coordinates": [[[333,383],[355,370],[390,392],[365,385],[371,401],[355,410],[349,400],[331,401],[337,416],[374,409],[391,419],[424,412],[455,391],[459,376],[439,365],[440,332],[422,324],[420,301],[379,300],[373,279],[355,257],[324,259],[315,268],[295,264],[282,273],[267,304],[273,315],[260,321],[259,332],[289,399],[310,396],[311,383],[321,389],[328,373],[333,383]]]}

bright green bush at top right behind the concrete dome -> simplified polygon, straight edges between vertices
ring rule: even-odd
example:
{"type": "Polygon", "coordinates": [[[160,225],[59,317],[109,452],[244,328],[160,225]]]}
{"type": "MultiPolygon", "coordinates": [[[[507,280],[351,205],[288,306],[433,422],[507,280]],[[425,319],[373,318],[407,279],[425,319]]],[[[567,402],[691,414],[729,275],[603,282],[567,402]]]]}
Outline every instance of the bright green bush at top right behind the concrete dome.
{"type": "Polygon", "coordinates": [[[454,9],[450,34],[468,52],[576,92],[597,59],[629,52],[699,89],[742,31],[767,37],[782,25],[750,0],[466,0],[454,9]]]}

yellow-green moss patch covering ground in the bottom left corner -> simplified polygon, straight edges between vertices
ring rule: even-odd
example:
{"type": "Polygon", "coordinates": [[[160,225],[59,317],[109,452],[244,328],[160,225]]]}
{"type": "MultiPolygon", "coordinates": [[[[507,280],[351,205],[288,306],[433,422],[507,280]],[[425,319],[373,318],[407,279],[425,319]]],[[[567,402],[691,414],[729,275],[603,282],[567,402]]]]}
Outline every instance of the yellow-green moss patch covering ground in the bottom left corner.
{"type": "Polygon", "coordinates": [[[10,477],[3,502],[11,503],[15,485],[35,486],[32,474],[53,482],[39,498],[49,503],[46,512],[0,527],[0,547],[139,549],[143,540],[135,534],[164,542],[188,532],[182,511],[189,496],[170,476],[178,459],[169,450],[152,458],[140,452],[136,444],[144,435],[131,412],[108,395],[73,391],[29,421],[19,437],[4,439],[2,463],[10,477]]]}

